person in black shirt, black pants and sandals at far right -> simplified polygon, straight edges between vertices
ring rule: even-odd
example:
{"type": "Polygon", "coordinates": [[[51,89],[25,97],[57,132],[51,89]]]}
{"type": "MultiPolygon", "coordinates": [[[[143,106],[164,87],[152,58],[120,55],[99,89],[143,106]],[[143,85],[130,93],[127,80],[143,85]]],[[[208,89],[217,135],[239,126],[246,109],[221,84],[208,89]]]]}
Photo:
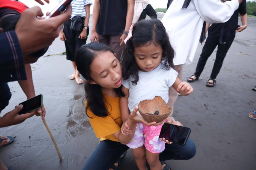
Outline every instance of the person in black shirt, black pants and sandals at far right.
{"type": "MultiPolygon", "coordinates": [[[[243,0],[238,9],[234,12],[230,20],[225,23],[213,23],[208,29],[208,37],[202,49],[202,53],[196,66],[196,72],[190,78],[188,82],[194,82],[199,79],[207,59],[212,55],[212,52],[218,45],[216,59],[212,68],[212,73],[206,86],[214,87],[216,84],[216,77],[220,72],[222,63],[229,48],[231,47],[236,32],[241,32],[247,27],[247,13],[246,13],[246,0],[243,0]],[[240,14],[242,26],[238,25],[238,13],[240,14]]],[[[207,23],[209,25],[209,23],[207,23]]],[[[206,25],[206,29],[208,26],[206,25]]],[[[207,30],[206,30],[207,32],[207,30]]]]}

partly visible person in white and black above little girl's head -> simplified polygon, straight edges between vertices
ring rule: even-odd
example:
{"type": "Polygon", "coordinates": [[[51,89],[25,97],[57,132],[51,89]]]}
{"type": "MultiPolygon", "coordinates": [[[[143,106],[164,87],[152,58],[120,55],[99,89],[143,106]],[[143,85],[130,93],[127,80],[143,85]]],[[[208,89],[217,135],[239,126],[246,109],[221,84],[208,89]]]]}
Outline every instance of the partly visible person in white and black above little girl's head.
{"type": "Polygon", "coordinates": [[[135,0],[132,23],[136,23],[137,21],[144,20],[147,15],[151,19],[157,18],[156,11],[150,5],[149,0],[135,0]]]}

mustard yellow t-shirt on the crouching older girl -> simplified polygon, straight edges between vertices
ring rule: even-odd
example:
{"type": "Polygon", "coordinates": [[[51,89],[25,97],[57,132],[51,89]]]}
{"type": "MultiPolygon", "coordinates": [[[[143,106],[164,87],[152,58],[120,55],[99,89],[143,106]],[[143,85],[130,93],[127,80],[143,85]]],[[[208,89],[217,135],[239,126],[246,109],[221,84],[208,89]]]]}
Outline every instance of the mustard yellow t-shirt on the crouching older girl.
{"type": "MultiPolygon", "coordinates": [[[[96,137],[100,138],[100,141],[109,139],[111,141],[119,142],[112,134],[120,131],[122,126],[122,118],[120,111],[119,97],[113,98],[104,94],[104,97],[108,101],[108,113],[106,117],[98,117],[92,113],[90,109],[87,109],[87,114],[92,117],[88,117],[92,125],[92,129],[96,137]]],[[[87,100],[86,100],[87,104],[87,100]]]]}

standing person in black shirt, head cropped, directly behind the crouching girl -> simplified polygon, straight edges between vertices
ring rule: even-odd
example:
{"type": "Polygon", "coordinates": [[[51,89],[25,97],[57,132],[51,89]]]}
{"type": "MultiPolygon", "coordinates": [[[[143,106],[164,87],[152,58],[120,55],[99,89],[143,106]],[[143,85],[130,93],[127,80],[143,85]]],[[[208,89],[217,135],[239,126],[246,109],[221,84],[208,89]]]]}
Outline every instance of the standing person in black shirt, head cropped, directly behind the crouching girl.
{"type": "Polygon", "coordinates": [[[132,25],[134,0],[94,0],[91,42],[108,45],[121,57],[128,30],[132,25]]]}

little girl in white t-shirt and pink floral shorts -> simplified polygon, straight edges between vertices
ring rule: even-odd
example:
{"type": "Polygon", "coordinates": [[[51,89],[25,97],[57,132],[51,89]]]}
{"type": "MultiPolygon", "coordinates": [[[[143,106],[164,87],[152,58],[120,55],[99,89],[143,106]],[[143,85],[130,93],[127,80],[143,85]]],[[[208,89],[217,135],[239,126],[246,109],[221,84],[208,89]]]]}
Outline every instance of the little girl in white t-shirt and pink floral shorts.
{"type": "MultiPolygon", "coordinates": [[[[122,92],[125,94],[120,98],[123,122],[142,100],[161,96],[168,103],[171,86],[182,96],[193,92],[190,84],[181,82],[178,73],[172,69],[174,50],[162,22],[157,19],[141,20],[132,26],[121,59],[122,92]]],[[[161,170],[159,153],[165,149],[164,142],[159,139],[161,127],[162,123],[150,127],[138,123],[132,141],[127,144],[133,149],[140,170],[146,170],[146,160],[150,170],[161,170]]],[[[122,126],[122,131],[126,131],[124,129],[122,126]]]]}

